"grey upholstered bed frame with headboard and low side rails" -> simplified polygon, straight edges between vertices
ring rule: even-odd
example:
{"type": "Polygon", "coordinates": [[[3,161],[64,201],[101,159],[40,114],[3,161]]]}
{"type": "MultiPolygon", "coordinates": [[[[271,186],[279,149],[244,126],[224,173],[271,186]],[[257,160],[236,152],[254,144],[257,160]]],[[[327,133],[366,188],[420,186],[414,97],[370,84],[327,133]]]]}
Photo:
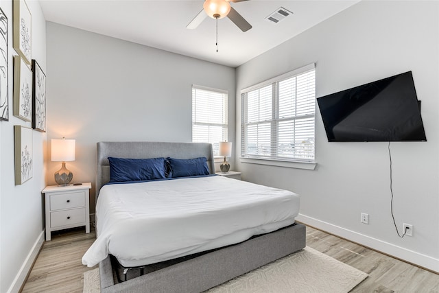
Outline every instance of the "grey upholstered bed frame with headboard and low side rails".
{"type": "MultiPolygon", "coordinates": [[[[210,143],[150,141],[97,143],[96,200],[102,185],[110,180],[108,156],[150,159],[171,156],[193,159],[204,156],[215,174],[210,143]]],[[[293,224],[245,242],[212,250],[118,283],[110,257],[99,263],[101,292],[202,292],[250,272],[305,247],[305,226],[293,224]]]]}

